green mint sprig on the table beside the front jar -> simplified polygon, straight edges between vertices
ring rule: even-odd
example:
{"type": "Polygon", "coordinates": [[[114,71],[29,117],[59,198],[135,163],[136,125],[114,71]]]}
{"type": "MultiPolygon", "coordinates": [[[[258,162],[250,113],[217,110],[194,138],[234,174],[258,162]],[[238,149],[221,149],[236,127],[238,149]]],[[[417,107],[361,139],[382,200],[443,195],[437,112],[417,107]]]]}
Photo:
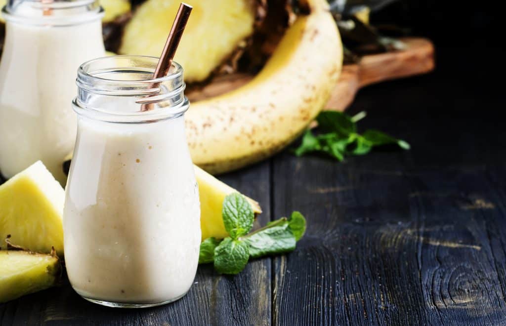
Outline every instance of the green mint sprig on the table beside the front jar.
{"type": "Polygon", "coordinates": [[[200,244],[199,264],[214,262],[221,274],[237,274],[249,258],[289,252],[295,249],[306,231],[306,219],[300,212],[282,217],[248,234],[255,220],[251,206],[237,193],[228,195],[222,210],[225,229],[230,237],[205,239],[200,244]]]}

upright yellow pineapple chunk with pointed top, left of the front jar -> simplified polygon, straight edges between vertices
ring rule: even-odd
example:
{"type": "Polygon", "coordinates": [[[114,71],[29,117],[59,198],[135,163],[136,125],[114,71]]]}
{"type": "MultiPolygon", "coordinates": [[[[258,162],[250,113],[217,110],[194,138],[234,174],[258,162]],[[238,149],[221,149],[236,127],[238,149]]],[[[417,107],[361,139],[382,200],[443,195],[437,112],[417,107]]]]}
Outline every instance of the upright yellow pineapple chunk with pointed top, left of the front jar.
{"type": "Polygon", "coordinates": [[[0,185],[0,248],[12,244],[36,252],[63,254],[63,203],[60,183],[37,161],[0,185]]]}

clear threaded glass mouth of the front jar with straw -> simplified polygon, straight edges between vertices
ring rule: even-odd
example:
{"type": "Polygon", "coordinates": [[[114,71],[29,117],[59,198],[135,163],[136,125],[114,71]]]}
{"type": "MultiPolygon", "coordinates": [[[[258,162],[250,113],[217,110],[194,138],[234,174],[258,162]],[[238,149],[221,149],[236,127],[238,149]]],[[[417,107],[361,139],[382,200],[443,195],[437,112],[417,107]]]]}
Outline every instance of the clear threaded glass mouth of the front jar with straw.
{"type": "Polygon", "coordinates": [[[152,78],[158,58],[109,56],[77,70],[73,108],[81,116],[106,122],[146,123],[181,116],[189,107],[183,68],[176,62],[166,76],[152,78]]]}

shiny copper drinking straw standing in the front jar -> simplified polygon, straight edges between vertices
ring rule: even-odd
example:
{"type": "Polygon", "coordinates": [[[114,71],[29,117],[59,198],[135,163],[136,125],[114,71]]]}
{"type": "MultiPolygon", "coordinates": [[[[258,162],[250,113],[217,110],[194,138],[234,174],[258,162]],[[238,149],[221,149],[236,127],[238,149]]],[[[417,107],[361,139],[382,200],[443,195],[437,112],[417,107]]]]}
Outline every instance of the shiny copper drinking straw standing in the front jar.
{"type": "MultiPolygon", "coordinates": [[[[174,59],[174,55],[178,49],[179,41],[181,41],[181,36],[183,36],[183,32],[192,9],[192,6],[185,3],[181,3],[179,5],[179,10],[176,14],[176,18],[174,19],[174,23],[172,24],[171,32],[168,33],[167,40],[163,46],[163,51],[161,52],[160,59],[158,60],[155,72],[153,73],[153,79],[165,76],[171,69],[172,60],[174,59]]],[[[153,86],[156,87],[156,84],[153,86]]],[[[152,108],[152,103],[141,105],[141,111],[151,110],[152,108]]]]}

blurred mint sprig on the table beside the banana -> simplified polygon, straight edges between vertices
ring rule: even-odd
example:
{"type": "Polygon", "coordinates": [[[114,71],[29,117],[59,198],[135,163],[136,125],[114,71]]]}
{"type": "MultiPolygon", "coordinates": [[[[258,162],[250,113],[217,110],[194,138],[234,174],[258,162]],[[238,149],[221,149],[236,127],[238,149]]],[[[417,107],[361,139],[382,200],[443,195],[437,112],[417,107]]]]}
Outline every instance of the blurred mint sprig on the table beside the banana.
{"type": "Polygon", "coordinates": [[[404,150],[410,146],[402,139],[397,139],[384,132],[370,129],[363,134],[357,132],[357,121],[365,117],[365,112],[350,117],[337,111],[322,111],[316,118],[320,134],[313,134],[308,129],[302,137],[301,145],[294,150],[297,156],[307,153],[325,153],[338,161],[346,156],[365,155],[374,146],[396,144],[404,150]]]}

